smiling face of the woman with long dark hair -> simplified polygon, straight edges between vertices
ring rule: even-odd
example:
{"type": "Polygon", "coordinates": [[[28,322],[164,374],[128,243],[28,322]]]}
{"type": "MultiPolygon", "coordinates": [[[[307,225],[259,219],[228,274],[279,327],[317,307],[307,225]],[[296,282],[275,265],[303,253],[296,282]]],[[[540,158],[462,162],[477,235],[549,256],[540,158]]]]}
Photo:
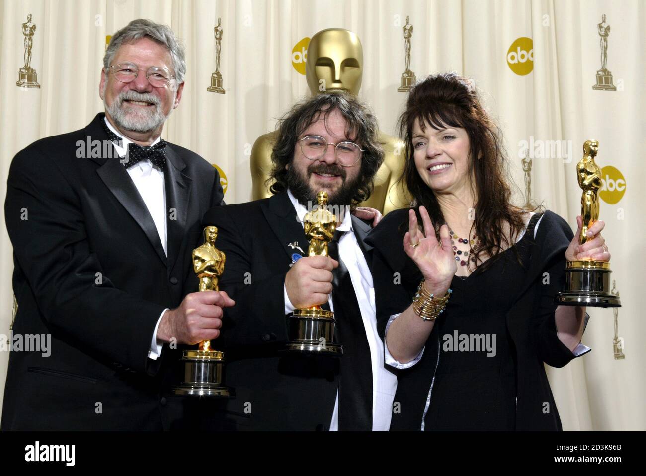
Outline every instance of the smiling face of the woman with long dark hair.
{"type": "Polygon", "coordinates": [[[433,192],[457,192],[469,186],[469,137],[461,127],[434,129],[419,119],[413,124],[415,168],[433,192]]]}

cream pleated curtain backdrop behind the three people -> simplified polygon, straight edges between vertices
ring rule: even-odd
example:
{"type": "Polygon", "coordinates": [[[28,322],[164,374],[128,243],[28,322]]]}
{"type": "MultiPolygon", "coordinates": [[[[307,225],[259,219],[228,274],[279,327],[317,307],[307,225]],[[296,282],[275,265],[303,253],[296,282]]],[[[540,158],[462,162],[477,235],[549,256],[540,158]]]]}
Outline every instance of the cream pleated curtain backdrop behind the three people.
{"type": "MultiPolygon", "coordinates": [[[[319,30],[339,27],[359,35],[364,48],[360,96],[375,110],[381,129],[396,135],[406,100],[397,92],[404,71],[402,26],[410,15],[411,69],[418,80],[446,71],[474,79],[505,132],[519,197],[525,190],[521,141],[572,144],[573,157],[567,147],[565,153],[549,154],[547,145],[551,157],[545,158],[536,146],[531,172],[532,197],[572,226],[581,197],[574,164],[585,140],[599,140],[599,166],[611,164],[625,177],[621,200],[601,201],[601,219],[607,223],[612,279],[623,303],[619,330],[626,358],[613,359],[612,310],[590,309],[583,342],[593,351],[566,368],[548,368],[548,375],[566,430],[646,429],[646,379],[640,370],[646,364],[646,324],[639,306],[646,268],[640,245],[646,234],[641,216],[646,165],[640,150],[646,125],[643,1],[0,0],[0,12],[2,197],[16,152],[41,137],[81,128],[103,110],[98,84],[105,37],[143,17],[171,26],[186,46],[182,103],[163,137],[224,170],[228,203],[251,199],[249,155],[255,139],[309,94],[305,77],[292,65],[292,48],[319,30]],[[39,89],[16,86],[24,64],[21,24],[28,14],[37,26],[31,64],[39,89]],[[602,14],[611,26],[607,68],[616,91],[592,89],[601,67],[597,25],[602,14]],[[218,17],[224,30],[224,95],[207,92],[215,69],[218,17]],[[533,40],[533,70],[526,75],[507,63],[508,50],[520,37],[533,40]]],[[[528,63],[513,64],[523,65],[528,63]]],[[[4,223],[4,210],[0,215],[4,223]]],[[[2,226],[0,333],[5,334],[13,266],[12,245],[2,226]]],[[[7,361],[8,352],[0,352],[0,388],[7,361]]]]}

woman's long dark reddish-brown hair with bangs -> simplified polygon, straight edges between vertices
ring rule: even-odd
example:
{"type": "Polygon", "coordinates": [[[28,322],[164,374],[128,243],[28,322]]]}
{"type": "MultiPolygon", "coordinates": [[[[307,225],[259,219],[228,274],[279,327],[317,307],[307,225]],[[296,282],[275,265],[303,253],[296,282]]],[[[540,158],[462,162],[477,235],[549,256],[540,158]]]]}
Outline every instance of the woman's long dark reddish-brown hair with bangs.
{"type": "Polygon", "coordinates": [[[406,110],[399,118],[399,132],[406,148],[406,164],[400,180],[408,186],[414,206],[419,209],[423,205],[428,210],[436,230],[446,221],[435,193],[422,181],[415,167],[413,124],[416,120],[422,128],[427,124],[436,130],[444,127],[466,130],[470,146],[468,171],[475,182],[472,183],[475,219],[469,235],[475,233],[480,239],[471,252],[476,266],[484,270],[525,228],[525,210],[510,202],[512,192],[506,179],[502,134],[480,104],[471,81],[465,77],[454,73],[432,75],[410,90],[406,110]],[[483,263],[482,256],[492,259],[483,263]]]}

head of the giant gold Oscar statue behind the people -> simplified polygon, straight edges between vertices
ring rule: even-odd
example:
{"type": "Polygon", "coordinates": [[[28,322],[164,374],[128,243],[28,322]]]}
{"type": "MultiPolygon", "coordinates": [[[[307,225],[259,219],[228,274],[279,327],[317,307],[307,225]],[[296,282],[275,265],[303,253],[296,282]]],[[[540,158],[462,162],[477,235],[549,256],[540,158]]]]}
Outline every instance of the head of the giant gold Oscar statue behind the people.
{"type": "Polygon", "coordinates": [[[307,46],[305,75],[313,95],[334,90],[358,95],[363,77],[359,37],[343,28],[328,28],[315,34],[307,46]]]}

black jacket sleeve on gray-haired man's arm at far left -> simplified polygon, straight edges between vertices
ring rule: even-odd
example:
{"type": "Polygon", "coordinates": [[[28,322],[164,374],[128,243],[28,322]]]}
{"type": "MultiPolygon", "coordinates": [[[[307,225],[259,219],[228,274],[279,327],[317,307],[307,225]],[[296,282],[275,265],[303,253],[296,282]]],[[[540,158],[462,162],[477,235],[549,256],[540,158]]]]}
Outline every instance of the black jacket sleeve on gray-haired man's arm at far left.
{"type": "Polygon", "coordinates": [[[115,288],[103,273],[89,245],[83,204],[45,150],[32,146],[12,161],[5,219],[14,265],[25,274],[50,328],[146,372],[152,332],[164,308],[115,288]]]}

